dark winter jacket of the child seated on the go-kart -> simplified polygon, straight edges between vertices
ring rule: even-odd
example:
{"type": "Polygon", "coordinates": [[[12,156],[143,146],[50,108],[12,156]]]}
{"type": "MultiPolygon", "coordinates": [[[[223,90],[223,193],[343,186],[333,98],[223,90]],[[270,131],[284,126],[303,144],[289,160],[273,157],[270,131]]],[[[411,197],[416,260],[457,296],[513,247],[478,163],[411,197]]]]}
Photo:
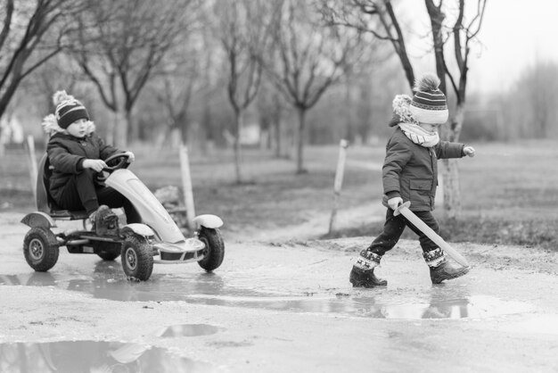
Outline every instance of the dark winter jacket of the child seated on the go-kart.
{"type": "Polygon", "coordinates": [[[46,152],[53,166],[49,192],[55,201],[59,201],[61,187],[68,182],[72,174],[83,171],[83,162],[86,159],[106,160],[112,154],[119,153],[119,150],[105,145],[103,139],[94,132],[83,138],[59,132],[50,138],[46,152]]]}

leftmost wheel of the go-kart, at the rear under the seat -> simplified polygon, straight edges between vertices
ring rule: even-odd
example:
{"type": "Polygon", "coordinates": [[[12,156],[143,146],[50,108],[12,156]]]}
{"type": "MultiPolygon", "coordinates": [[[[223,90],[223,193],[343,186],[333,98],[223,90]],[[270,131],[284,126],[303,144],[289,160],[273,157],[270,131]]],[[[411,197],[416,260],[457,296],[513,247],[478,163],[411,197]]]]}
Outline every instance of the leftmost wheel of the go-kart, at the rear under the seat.
{"type": "Polygon", "coordinates": [[[23,255],[32,269],[46,272],[58,261],[58,240],[47,228],[31,228],[23,239],[23,255]]]}

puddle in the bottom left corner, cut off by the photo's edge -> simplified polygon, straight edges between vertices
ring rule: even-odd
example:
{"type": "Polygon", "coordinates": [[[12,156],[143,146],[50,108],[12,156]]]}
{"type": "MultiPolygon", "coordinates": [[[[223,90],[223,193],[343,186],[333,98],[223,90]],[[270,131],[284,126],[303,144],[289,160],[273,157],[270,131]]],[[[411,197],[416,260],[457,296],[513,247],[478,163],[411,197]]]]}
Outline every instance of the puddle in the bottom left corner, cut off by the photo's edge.
{"type": "Polygon", "coordinates": [[[24,372],[213,372],[212,365],[167,350],[119,342],[64,341],[0,344],[0,371],[24,372]]]}

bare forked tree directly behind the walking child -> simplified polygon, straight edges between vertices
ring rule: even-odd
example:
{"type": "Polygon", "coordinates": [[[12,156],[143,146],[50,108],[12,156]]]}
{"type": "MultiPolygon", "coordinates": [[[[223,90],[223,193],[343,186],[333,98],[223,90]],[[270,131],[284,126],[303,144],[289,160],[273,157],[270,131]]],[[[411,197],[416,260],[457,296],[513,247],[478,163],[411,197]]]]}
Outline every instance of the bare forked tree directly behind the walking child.
{"type": "MultiPolygon", "coordinates": [[[[465,0],[455,0],[455,9],[450,9],[450,12],[455,13],[453,22],[447,21],[447,8],[443,6],[443,0],[438,4],[433,0],[424,0],[424,4],[431,20],[432,46],[436,73],[441,80],[440,89],[447,93],[446,78],[449,79],[456,98],[455,112],[450,119],[449,127],[442,130],[442,137],[457,141],[464,122],[469,54],[480,32],[486,0],[477,0],[476,10],[471,20],[465,17],[465,0]],[[450,47],[453,47],[453,53],[447,52],[450,47]],[[448,63],[451,55],[453,55],[453,63],[448,63]]],[[[399,56],[409,87],[414,86],[413,66],[406,52],[398,16],[390,0],[350,0],[343,6],[326,4],[325,8],[332,24],[367,30],[382,40],[390,41],[399,56]],[[356,16],[355,12],[357,12],[356,16]],[[381,27],[370,29],[371,18],[377,19],[381,27]]],[[[449,217],[456,218],[461,214],[459,173],[455,160],[444,160],[443,164],[444,209],[449,217]]]]}

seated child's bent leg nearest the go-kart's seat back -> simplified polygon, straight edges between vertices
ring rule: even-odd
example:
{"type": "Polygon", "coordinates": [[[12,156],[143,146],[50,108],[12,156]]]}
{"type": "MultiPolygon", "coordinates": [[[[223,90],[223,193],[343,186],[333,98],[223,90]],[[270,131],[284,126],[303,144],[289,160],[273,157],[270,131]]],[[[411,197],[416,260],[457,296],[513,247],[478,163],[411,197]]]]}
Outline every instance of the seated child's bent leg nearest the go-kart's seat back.
{"type": "Polygon", "coordinates": [[[99,208],[93,182],[93,170],[83,170],[74,175],[62,187],[62,194],[56,203],[70,211],[86,210],[88,214],[99,208]]]}

